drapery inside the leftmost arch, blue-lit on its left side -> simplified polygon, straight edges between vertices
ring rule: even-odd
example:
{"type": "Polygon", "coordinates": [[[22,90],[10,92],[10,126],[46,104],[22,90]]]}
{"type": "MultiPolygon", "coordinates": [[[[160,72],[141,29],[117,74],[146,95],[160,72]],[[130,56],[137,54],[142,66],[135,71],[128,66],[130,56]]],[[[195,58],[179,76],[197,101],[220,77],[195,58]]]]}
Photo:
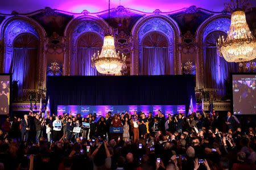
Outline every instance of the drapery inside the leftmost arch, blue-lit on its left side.
{"type": "Polygon", "coordinates": [[[38,40],[34,35],[23,34],[14,40],[9,73],[13,74],[13,80],[19,81],[19,89],[38,86],[37,46],[38,40]]]}

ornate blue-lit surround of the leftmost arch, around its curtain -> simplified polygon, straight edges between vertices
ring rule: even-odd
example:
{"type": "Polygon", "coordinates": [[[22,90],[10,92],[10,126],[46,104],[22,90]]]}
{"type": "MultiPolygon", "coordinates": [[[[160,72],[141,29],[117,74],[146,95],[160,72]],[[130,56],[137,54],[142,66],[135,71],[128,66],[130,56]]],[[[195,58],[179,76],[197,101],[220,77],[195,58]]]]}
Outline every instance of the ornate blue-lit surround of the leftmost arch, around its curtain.
{"type": "MultiPolygon", "coordinates": [[[[43,27],[35,22],[34,20],[22,16],[13,16],[3,23],[3,27],[1,29],[1,36],[3,38],[3,46],[4,46],[4,55],[3,55],[3,71],[5,73],[9,73],[10,66],[11,66],[11,59],[13,58],[14,53],[14,40],[16,37],[22,34],[30,34],[36,37],[38,40],[38,62],[41,63],[37,65],[37,82],[36,85],[30,84],[30,86],[23,86],[22,82],[18,82],[19,88],[23,87],[30,87],[30,88],[44,88],[45,87],[45,76],[46,76],[46,69],[45,63],[46,58],[43,53],[43,37],[46,36],[46,32],[44,31],[43,27]]],[[[24,37],[23,37],[24,38],[24,37]]],[[[18,42],[17,42],[18,43],[18,42]]],[[[16,44],[16,43],[15,43],[16,44]]],[[[22,73],[23,74],[23,73],[22,73]]]]}

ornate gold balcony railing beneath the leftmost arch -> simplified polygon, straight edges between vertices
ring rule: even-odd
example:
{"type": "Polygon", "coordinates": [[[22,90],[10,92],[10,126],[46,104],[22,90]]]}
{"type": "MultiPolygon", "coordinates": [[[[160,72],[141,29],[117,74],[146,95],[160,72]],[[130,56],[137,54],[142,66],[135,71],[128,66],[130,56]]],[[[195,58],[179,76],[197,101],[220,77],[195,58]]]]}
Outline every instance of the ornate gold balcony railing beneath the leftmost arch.
{"type": "Polygon", "coordinates": [[[40,102],[42,98],[42,103],[46,100],[46,90],[42,89],[22,89],[18,92],[13,92],[13,102],[14,103],[27,103],[32,101],[40,102]]]}

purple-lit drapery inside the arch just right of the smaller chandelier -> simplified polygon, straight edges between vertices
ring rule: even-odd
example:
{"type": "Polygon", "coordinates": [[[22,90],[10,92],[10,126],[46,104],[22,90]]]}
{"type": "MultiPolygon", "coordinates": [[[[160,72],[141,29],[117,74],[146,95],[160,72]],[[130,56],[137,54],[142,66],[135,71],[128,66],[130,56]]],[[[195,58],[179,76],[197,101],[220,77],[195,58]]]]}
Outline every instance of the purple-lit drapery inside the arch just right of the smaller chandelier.
{"type": "Polygon", "coordinates": [[[173,57],[168,54],[168,40],[159,32],[151,32],[142,40],[141,75],[173,74],[173,57]]]}

